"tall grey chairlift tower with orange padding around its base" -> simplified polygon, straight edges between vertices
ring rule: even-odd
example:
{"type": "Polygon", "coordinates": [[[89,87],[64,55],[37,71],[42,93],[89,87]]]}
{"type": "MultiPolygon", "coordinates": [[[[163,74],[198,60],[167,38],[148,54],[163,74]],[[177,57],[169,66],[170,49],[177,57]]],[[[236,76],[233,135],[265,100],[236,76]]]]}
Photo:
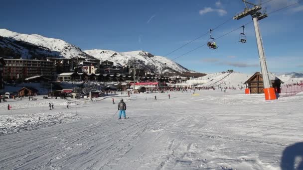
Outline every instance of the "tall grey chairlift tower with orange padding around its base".
{"type": "Polygon", "coordinates": [[[257,39],[261,73],[262,73],[262,77],[263,77],[265,99],[266,100],[277,99],[275,89],[272,87],[271,81],[269,79],[269,74],[268,74],[266,59],[265,59],[265,52],[264,52],[264,48],[263,48],[263,42],[262,42],[260,26],[259,26],[259,20],[266,18],[267,14],[261,13],[259,11],[262,9],[261,5],[256,5],[254,3],[248,2],[247,0],[242,0],[242,1],[244,2],[246,8],[244,9],[243,12],[234,16],[233,19],[239,20],[241,18],[244,18],[247,15],[252,16],[253,21],[254,21],[256,39],[257,39]],[[249,8],[247,4],[253,5],[253,7],[249,8]]]}

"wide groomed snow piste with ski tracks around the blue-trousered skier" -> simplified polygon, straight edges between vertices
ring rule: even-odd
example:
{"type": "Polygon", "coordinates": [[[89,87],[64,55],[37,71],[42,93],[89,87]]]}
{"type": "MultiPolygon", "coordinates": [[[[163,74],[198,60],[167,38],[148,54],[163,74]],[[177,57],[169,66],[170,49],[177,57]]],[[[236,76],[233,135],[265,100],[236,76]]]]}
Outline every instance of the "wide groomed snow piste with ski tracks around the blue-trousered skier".
{"type": "Polygon", "coordinates": [[[63,99],[8,99],[0,170],[281,170],[284,150],[303,148],[303,94],[266,101],[243,93],[120,93],[70,100],[69,109],[63,99]],[[120,98],[129,119],[118,120],[120,98]]]}

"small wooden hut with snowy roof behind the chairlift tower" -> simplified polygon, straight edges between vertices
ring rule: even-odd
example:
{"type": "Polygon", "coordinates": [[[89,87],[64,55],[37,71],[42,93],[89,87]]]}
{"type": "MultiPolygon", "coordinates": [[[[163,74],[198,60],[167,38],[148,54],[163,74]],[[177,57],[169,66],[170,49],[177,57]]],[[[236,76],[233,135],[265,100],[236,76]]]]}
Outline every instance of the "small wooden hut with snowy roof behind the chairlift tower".
{"type": "MultiPolygon", "coordinates": [[[[277,78],[272,73],[268,73],[269,78],[271,80],[272,86],[275,88],[277,93],[281,92],[280,86],[282,82],[279,78],[277,78]]],[[[256,72],[252,77],[250,77],[245,84],[247,88],[250,89],[250,93],[264,93],[264,85],[263,85],[263,77],[260,72],[256,72]]]]}

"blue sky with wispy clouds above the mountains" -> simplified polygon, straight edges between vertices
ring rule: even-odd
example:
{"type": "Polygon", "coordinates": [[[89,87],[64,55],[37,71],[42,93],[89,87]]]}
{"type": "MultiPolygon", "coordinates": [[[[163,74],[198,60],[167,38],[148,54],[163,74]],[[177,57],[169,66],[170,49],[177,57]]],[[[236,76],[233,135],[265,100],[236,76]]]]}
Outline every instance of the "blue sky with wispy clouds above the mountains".
{"type": "MultiPolygon", "coordinates": [[[[272,0],[264,7],[269,13],[296,2],[272,0]]],[[[0,28],[63,39],[82,50],[144,50],[164,56],[243,9],[242,0],[1,0],[0,28]]],[[[303,72],[302,16],[300,2],[260,21],[270,72],[303,72]]],[[[250,21],[250,16],[231,19],[212,36],[220,37],[250,21]]],[[[202,73],[260,71],[253,24],[246,25],[246,44],[238,42],[241,31],[217,39],[216,50],[204,46],[174,61],[202,73]]],[[[208,38],[203,36],[166,57],[183,55],[208,38]]]]}

